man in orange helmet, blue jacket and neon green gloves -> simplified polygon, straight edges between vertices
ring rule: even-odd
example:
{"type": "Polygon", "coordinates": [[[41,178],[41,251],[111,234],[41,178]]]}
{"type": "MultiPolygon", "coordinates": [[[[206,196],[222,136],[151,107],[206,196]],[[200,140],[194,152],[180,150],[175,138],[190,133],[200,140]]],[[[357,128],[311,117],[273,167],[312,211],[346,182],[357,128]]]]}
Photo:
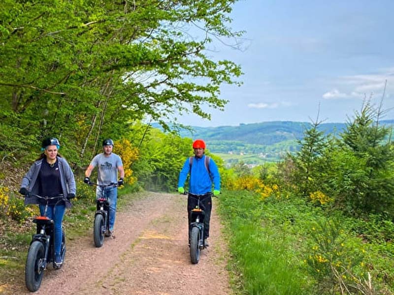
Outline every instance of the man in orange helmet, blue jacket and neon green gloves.
{"type": "MultiPolygon", "coordinates": [[[[189,178],[189,193],[193,195],[205,195],[206,198],[201,199],[202,206],[205,208],[205,218],[204,218],[204,236],[205,236],[205,246],[208,246],[206,238],[209,236],[209,221],[211,217],[212,210],[212,183],[213,183],[213,194],[218,196],[220,194],[220,174],[216,163],[211,158],[206,158],[205,153],[205,142],[201,139],[197,139],[193,142],[194,157],[190,157],[185,161],[181,172],[179,173],[178,180],[178,192],[184,193],[185,189],[183,185],[185,184],[188,174],[189,178]],[[208,161],[207,161],[208,160],[208,161]]],[[[195,208],[197,205],[197,200],[195,198],[188,198],[188,220],[190,224],[190,214],[189,212],[195,208]]]]}

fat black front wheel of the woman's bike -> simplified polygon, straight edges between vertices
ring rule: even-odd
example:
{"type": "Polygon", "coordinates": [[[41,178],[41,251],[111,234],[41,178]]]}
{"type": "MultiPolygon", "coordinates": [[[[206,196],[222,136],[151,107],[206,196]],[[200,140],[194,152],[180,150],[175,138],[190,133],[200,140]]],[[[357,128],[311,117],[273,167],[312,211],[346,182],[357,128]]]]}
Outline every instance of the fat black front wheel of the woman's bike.
{"type": "Polygon", "coordinates": [[[26,259],[25,267],[25,282],[26,287],[31,292],[39,289],[44,275],[44,245],[40,241],[33,241],[29,247],[28,257],[26,259]]]}

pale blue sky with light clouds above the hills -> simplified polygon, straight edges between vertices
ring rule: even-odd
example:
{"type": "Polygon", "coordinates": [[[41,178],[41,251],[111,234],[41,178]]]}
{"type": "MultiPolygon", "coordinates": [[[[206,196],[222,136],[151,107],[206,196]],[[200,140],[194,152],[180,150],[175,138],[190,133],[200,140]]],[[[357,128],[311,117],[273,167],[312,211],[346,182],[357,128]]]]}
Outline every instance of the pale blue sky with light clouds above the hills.
{"type": "MultiPolygon", "coordinates": [[[[241,50],[212,44],[213,59],[241,65],[241,87],[223,85],[214,127],[264,121],[346,122],[370,98],[394,118],[393,0],[240,0],[230,14],[241,50]],[[386,85],[386,88],[385,88],[386,85]],[[383,99],[383,100],[382,100],[383,99]],[[319,115],[319,116],[318,116],[319,115]]],[[[229,40],[230,41],[230,40],[229,40]]]]}

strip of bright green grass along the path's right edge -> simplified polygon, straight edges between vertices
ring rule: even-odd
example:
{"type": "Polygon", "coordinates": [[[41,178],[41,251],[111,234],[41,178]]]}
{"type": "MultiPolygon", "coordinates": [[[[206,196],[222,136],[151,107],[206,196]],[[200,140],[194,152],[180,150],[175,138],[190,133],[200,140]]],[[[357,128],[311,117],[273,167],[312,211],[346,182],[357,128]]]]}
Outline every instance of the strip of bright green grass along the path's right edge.
{"type": "Polygon", "coordinates": [[[247,192],[226,192],[219,211],[231,233],[230,264],[240,273],[234,286],[241,285],[242,294],[308,294],[293,237],[263,226],[257,198],[247,192]]]}

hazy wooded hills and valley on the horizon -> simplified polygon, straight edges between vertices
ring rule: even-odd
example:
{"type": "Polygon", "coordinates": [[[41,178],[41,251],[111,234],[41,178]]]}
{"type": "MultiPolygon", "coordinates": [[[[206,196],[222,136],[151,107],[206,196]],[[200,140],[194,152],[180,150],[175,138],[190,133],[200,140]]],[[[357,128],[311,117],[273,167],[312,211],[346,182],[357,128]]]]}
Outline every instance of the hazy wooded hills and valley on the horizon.
{"type": "MultiPolygon", "coordinates": [[[[382,120],[381,124],[393,126],[394,120],[382,120]]],[[[159,124],[153,127],[161,128],[159,124]]],[[[250,163],[277,161],[285,152],[298,150],[297,141],[311,127],[308,122],[270,121],[238,126],[195,127],[193,131],[180,130],[181,137],[201,138],[209,151],[222,156],[229,163],[248,158],[250,163]],[[229,156],[230,155],[230,156],[229,156]],[[239,157],[241,155],[242,157],[239,157]],[[251,155],[255,155],[251,157],[251,155]]],[[[320,130],[338,136],[346,128],[345,123],[322,123],[320,130]]]]}

